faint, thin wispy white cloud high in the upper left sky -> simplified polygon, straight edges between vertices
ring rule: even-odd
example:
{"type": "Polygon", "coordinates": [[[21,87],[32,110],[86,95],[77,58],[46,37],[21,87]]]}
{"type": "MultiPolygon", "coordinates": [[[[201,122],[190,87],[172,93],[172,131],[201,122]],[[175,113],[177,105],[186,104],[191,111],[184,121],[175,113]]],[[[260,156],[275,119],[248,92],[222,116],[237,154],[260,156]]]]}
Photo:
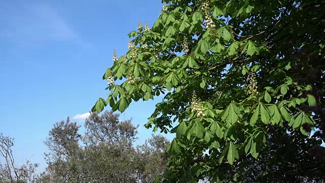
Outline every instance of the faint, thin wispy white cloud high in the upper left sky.
{"type": "MultiPolygon", "coordinates": [[[[73,26],[60,12],[49,4],[8,6],[0,18],[1,37],[8,37],[20,42],[73,42],[89,46],[74,31],[73,26]]],[[[1,15],[1,12],[0,12],[1,15]]]]}

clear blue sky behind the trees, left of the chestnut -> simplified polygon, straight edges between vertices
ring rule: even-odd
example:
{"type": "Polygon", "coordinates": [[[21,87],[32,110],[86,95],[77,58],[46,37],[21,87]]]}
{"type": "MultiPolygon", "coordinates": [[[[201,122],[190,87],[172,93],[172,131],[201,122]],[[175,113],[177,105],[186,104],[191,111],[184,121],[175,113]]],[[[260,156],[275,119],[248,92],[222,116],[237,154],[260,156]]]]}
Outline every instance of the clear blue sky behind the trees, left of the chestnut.
{"type": "MultiPolygon", "coordinates": [[[[83,125],[85,113],[106,94],[102,76],[112,66],[113,49],[126,52],[127,34],[138,20],[152,26],[162,5],[152,0],[1,4],[0,132],[15,138],[16,164],[32,156],[40,171],[46,166],[43,140],[53,124],[84,114],[73,119],[83,125]]],[[[124,112],[140,125],[141,143],[151,136],[143,125],[160,100],[132,103],[124,112]]]]}

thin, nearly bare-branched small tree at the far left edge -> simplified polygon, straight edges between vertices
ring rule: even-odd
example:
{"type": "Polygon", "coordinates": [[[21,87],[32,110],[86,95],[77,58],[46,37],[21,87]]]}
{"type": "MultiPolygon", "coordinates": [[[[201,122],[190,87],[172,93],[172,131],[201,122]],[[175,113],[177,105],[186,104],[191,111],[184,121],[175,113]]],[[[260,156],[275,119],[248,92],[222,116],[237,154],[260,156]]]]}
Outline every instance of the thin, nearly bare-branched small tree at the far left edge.
{"type": "Polygon", "coordinates": [[[0,160],[4,159],[5,161],[4,165],[0,161],[0,182],[35,182],[37,180],[36,168],[39,164],[32,164],[29,160],[26,160],[25,163],[17,166],[13,156],[13,146],[14,138],[0,133],[0,160]]]}

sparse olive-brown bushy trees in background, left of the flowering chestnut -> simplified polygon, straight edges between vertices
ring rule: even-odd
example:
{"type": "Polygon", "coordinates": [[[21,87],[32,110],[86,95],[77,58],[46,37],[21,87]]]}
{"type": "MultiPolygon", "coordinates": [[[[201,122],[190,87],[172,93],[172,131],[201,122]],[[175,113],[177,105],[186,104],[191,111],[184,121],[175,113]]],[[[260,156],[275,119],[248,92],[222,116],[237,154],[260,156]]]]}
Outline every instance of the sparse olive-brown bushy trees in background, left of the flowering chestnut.
{"type": "Polygon", "coordinates": [[[69,117],[55,123],[45,141],[48,167],[39,182],[152,182],[163,174],[169,141],[152,136],[135,147],[138,127],[118,117],[113,111],[90,113],[85,135],[69,117]]]}

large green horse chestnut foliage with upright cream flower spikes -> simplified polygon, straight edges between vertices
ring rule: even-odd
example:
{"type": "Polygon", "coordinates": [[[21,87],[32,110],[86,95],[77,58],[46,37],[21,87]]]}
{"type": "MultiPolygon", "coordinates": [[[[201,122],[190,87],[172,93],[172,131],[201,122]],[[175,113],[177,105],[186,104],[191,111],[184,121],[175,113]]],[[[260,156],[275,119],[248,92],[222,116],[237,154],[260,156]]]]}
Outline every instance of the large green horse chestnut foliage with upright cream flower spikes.
{"type": "Polygon", "coordinates": [[[129,51],[103,76],[125,81],[92,108],[123,112],[164,95],[146,124],[176,134],[157,182],[220,181],[225,168],[270,156],[274,131],[321,156],[322,132],[308,135],[325,129],[323,1],[165,2],[151,29],[129,33],[129,51]]]}

